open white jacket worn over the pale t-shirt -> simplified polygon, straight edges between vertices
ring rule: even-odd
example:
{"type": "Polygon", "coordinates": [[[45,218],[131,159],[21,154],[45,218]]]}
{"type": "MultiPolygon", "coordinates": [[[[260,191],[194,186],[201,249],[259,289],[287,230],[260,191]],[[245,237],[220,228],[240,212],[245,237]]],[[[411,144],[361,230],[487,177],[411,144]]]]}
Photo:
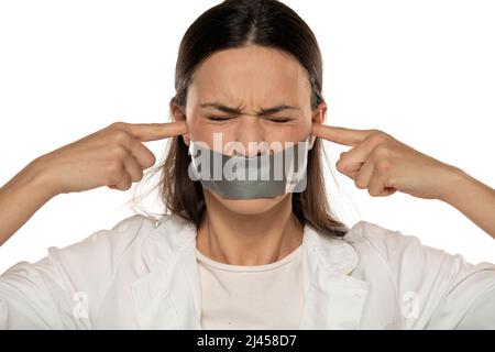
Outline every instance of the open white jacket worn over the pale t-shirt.
{"type": "MultiPolygon", "coordinates": [[[[370,222],[306,226],[300,329],[495,329],[495,265],[370,222]]],[[[133,216],[0,276],[2,329],[201,329],[196,228],[133,216]]],[[[253,297],[262,299],[262,297],[253,297]]]]}

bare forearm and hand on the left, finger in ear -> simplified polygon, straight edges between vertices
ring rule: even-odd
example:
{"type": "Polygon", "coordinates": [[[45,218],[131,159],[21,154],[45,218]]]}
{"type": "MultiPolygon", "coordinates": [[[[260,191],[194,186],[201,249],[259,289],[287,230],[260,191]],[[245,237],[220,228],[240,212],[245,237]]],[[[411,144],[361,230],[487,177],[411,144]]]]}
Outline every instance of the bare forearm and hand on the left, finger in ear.
{"type": "Polygon", "coordinates": [[[0,187],[0,245],[56,195],[101,186],[131,188],[155,164],[155,156],[142,142],[186,134],[185,121],[116,122],[35,158],[0,187]]]}

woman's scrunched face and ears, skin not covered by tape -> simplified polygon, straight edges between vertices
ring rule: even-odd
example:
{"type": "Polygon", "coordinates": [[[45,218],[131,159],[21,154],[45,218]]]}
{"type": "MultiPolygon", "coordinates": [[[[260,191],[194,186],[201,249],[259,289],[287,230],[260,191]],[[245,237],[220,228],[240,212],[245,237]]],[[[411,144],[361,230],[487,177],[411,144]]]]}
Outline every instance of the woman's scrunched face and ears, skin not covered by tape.
{"type": "MultiPolygon", "coordinates": [[[[189,85],[185,111],[174,107],[173,113],[176,121],[187,120],[187,145],[190,140],[200,141],[217,150],[213,134],[220,133],[219,152],[230,154],[226,144],[239,142],[250,157],[258,152],[252,148],[253,142],[304,141],[311,132],[312,121],[322,123],[326,106],[311,111],[310,97],[307,73],[296,59],[273,48],[245,46],[218,52],[205,61],[189,85]],[[266,113],[261,114],[262,111],[266,113]]],[[[265,212],[290,196],[233,200],[208,189],[205,193],[207,201],[215,197],[242,215],[265,212]]]]}

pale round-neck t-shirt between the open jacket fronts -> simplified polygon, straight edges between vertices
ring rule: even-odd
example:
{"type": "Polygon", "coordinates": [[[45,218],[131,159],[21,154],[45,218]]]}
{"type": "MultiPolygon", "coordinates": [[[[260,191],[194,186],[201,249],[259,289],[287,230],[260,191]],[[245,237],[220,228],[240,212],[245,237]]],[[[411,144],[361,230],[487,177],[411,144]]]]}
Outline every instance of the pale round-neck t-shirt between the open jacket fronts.
{"type": "Polygon", "coordinates": [[[304,295],[301,246],[266,265],[229,265],[196,250],[202,329],[298,329],[304,295]]]}

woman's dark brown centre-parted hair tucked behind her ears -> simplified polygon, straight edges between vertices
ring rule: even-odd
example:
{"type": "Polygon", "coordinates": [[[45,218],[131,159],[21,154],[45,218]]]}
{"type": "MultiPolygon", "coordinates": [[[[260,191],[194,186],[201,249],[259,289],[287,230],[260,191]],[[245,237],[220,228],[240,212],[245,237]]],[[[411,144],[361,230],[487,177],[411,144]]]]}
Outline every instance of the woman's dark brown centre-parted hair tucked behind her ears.
{"type": "MultiPolygon", "coordinates": [[[[245,45],[260,45],[296,58],[307,70],[311,86],[311,111],[322,98],[322,59],[315,34],[290,8],[276,0],[227,0],[201,14],[186,31],[175,72],[174,105],[184,108],[193,74],[211,54],[245,45]]],[[[316,140],[309,152],[307,189],[292,195],[293,212],[302,223],[332,237],[342,237],[345,226],[328,204],[322,169],[322,144],[316,140]]],[[[166,209],[199,227],[206,209],[202,186],[188,176],[190,156],[182,136],[169,140],[161,165],[160,197],[166,209]]]]}

